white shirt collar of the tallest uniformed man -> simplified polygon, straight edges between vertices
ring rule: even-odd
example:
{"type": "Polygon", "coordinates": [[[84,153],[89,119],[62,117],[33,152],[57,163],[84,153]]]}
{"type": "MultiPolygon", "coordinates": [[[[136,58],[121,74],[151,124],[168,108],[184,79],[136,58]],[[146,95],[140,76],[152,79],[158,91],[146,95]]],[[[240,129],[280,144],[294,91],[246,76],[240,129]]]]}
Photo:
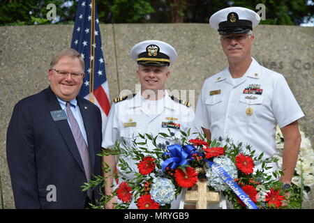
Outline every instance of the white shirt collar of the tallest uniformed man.
{"type": "MultiPolygon", "coordinates": [[[[246,70],[245,77],[251,77],[254,79],[260,79],[262,77],[262,73],[260,72],[260,64],[255,61],[255,59],[252,57],[251,65],[248,67],[248,70],[246,70]]],[[[227,83],[233,84],[232,82],[232,76],[230,74],[229,66],[225,68],[220,74],[216,77],[215,82],[222,82],[226,81],[227,83]]]]}

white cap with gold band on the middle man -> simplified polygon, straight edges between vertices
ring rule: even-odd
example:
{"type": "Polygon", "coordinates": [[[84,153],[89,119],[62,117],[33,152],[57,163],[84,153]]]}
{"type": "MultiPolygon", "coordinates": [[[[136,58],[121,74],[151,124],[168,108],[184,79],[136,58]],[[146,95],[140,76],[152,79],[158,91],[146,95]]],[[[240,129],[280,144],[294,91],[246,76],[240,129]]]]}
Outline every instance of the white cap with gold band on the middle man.
{"type": "Polygon", "coordinates": [[[160,40],[145,40],[130,50],[133,61],[142,65],[169,66],[177,58],[177,52],[171,45],[160,40]]]}

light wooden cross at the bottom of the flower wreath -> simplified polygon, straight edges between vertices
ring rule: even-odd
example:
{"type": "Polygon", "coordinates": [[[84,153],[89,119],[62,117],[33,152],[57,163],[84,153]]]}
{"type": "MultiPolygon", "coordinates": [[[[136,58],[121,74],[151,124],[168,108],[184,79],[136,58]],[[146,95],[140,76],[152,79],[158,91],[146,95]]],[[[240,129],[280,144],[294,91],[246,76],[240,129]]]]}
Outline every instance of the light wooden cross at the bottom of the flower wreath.
{"type": "Polygon", "coordinates": [[[219,193],[208,190],[206,181],[197,180],[197,190],[188,190],[185,202],[196,202],[196,209],[207,209],[209,203],[219,203],[219,193]]]}

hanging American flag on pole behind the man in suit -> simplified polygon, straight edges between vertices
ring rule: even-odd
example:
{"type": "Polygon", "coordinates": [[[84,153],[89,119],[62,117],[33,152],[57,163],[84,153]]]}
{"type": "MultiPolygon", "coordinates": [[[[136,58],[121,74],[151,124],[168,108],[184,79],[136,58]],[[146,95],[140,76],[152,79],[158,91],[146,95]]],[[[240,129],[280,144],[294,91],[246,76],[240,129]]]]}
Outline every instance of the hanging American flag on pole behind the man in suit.
{"type": "Polygon", "coordinates": [[[71,48],[80,52],[85,62],[84,83],[79,95],[100,108],[104,131],[110,97],[95,0],[78,1],[71,48]]]}

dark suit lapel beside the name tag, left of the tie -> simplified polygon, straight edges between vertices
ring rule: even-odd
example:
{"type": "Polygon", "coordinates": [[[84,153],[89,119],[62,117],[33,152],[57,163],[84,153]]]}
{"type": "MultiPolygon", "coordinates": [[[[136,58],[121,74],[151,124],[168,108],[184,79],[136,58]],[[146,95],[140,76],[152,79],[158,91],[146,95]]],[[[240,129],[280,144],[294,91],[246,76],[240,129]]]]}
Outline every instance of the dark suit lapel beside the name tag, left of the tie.
{"type": "MultiPolygon", "coordinates": [[[[50,112],[60,110],[61,106],[57,100],[56,95],[51,91],[50,88],[46,89],[46,100],[47,100],[47,107],[50,112]]],[[[77,145],[75,143],[75,139],[73,137],[72,131],[70,129],[70,125],[68,125],[67,120],[61,120],[61,121],[54,121],[54,123],[57,125],[57,128],[59,132],[61,133],[64,141],[66,141],[66,144],[68,145],[68,148],[70,149],[70,152],[73,154],[77,164],[79,164],[80,169],[85,173],[83,162],[80,156],[80,153],[77,149],[77,145]]]]}

